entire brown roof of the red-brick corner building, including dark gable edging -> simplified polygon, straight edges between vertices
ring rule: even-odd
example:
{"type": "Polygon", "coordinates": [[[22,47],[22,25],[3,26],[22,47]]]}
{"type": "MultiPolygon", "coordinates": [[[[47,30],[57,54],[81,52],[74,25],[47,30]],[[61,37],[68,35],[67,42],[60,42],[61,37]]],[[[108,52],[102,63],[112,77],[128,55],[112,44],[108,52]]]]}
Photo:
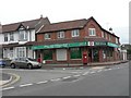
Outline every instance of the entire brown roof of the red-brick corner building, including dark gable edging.
{"type": "MultiPolygon", "coordinates": [[[[90,22],[91,20],[95,21],[95,23],[100,27],[102,30],[104,30],[108,34],[111,34],[110,32],[104,29],[93,16],[91,16],[88,20],[82,19],[82,20],[67,21],[67,22],[52,23],[49,25],[45,25],[37,34],[74,29],[74,28],[83,28],[87,24],[87,22],[90,22]]],[[[111,35],[116,36],[115,34],[111,34],[111,35]]],[[[116,37],[118,37],[118,36],[116,36],[116,37]]]]}

